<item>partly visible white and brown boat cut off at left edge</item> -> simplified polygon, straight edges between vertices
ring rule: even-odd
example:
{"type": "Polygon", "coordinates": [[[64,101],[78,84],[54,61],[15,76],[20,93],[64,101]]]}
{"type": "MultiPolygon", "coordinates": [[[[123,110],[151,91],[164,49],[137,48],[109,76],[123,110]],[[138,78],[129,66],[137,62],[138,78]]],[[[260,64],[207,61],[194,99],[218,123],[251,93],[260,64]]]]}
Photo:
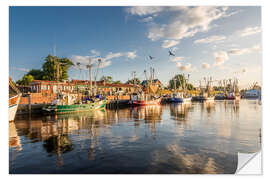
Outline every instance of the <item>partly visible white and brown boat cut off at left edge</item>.
{"type": "Polygon", "coordinates": [[[9,122],[14,121],[17,109],[20,103],[21,93],[19,89],[9,79],[9,106],[8,106],[8,118],[9,122]]]}

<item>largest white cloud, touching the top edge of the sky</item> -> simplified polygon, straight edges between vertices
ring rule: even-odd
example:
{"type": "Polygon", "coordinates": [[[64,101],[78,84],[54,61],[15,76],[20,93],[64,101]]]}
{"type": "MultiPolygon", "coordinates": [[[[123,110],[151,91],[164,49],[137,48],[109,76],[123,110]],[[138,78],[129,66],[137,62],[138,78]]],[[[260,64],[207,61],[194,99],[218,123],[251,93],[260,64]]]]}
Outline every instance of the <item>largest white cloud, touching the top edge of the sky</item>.
{"type": "Polygon", "coordinates": [[[163,12],[171,12],[168,24],[149,24],[147,37],[152,41],[165,38],[180,40],[194,36],[198,32],[209,30],[210,24],[225,17],[227,7],[132,7],[127,12],[131,15],[159,16],[163,12]]]}

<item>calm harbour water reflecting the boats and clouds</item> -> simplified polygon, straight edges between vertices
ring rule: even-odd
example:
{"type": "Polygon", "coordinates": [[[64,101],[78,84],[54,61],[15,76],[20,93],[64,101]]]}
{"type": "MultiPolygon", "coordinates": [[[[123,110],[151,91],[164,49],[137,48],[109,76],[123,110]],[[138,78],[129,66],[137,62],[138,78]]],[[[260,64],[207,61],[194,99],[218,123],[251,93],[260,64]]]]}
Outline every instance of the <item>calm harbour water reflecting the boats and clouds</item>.
{"type": "Polygon", "coordinates": [[[168,104],[9,124],[10,173],[234,173],[261,146],[256,100],[168,104]]]}

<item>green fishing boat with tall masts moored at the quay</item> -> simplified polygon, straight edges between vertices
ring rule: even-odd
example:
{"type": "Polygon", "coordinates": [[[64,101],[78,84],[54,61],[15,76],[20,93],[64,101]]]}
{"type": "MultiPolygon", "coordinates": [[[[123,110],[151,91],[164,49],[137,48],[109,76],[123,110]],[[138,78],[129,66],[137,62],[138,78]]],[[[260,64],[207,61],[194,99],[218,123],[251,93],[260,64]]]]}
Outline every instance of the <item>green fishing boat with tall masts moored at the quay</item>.
{"type": "MultiPolygon", "coordinates": [[[[99,61],[99,65],[101,60],[99,61]]],[[[57,69],[59,68],[59,63],[57,63],[57,69]]],[[[86,101],[79,101],[78,94],[65,94],[63,92],[57,93],[57,99],[55,99],[51,105],[47,105],[42,108],[43,112],[50,113],[50,114],[62,114],[62,113],[74,113],[74,112],[87,112],[93,111],[98,109],[104,109],[106,107],[106,99],[100,99],[98,96],[94,96],[93,98],[93,89],[92,89],[92,63],[91,59],[89,59],[89,64],[87,65],[89,69],[89,98],[86,101]]],[[[57,72],[59,72],[57,70],[57,72]]],[[[58,73],[57,73],[58,74],[58,73]]],[[[97,75],[97,73],[96,73],[97,75]]],[[[58,79],[58,76],[57,76],[58,79]]],[[[95,77],[96,79],[96,77],[95,77]]],[[[96,85],[96,84],[95,84],[96,85]]],[[[58,89],[58,88],[57,88],[58,89]]],[[[96,87],[95,87],[96,89],[96,87]]],[[[94,95],[95,95],[94,90],[94,95]]]]}

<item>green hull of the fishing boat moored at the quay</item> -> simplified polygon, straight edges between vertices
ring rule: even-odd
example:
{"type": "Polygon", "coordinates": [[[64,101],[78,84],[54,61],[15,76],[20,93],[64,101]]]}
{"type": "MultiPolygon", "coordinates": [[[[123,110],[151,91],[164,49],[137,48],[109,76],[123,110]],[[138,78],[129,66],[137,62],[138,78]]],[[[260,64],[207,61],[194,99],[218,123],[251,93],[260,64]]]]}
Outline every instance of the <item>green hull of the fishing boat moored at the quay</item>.
{"type": "Polygon", "coordinates": [[[72,104],[72,105],[49,105],[42,108],[44,113],[63,114],[75,112],[87,112],[106,107],[106,100],[93,102],[90,104],[72,104]]]}

